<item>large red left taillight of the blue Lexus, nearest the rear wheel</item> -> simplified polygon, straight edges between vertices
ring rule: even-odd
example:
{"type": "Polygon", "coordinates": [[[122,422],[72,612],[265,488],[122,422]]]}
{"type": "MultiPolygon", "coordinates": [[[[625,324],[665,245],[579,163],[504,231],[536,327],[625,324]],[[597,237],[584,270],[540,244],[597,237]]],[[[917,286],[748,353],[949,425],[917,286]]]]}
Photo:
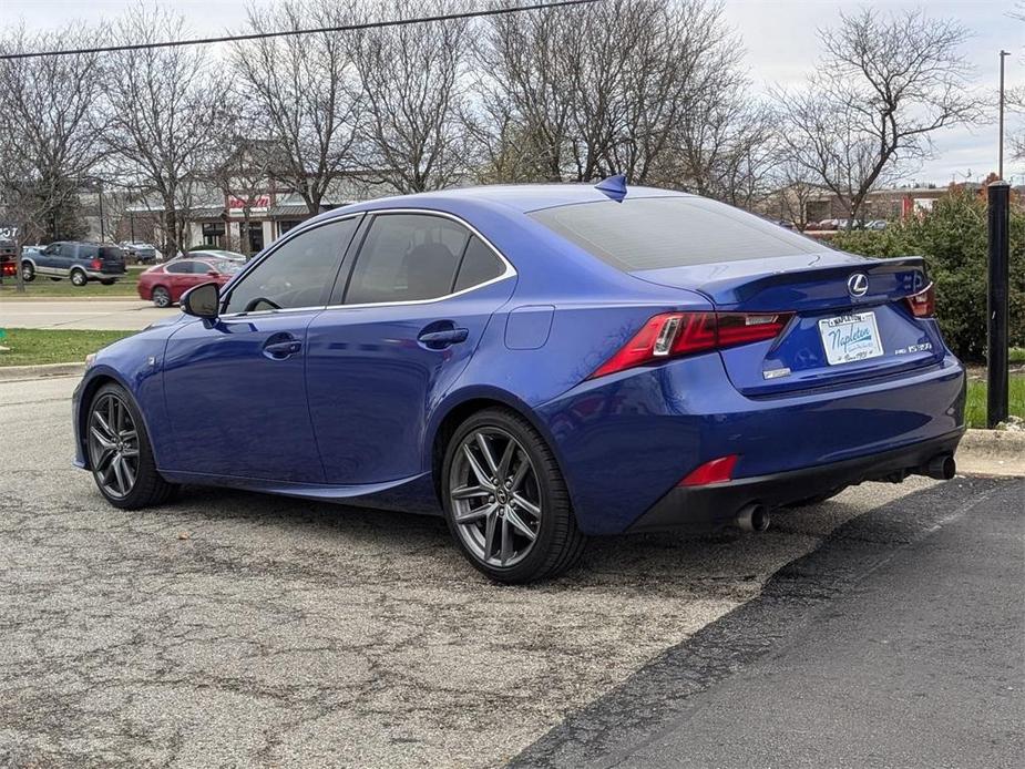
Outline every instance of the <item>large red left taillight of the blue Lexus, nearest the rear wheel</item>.
{"type": "Polygon", "coordinates": [[[667,358],[775,339],[793,312],[664,312],[650,318],[591,378],[667,358]]]}

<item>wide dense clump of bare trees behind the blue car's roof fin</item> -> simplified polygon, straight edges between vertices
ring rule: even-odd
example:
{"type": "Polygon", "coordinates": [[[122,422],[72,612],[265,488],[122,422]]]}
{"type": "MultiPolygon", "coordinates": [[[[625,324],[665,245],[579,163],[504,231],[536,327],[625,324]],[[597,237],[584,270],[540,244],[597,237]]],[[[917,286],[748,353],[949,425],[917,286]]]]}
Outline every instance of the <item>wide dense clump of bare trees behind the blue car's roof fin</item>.
{"type": "MultiPolygon", "coordinates": [[[[683,126],[689,119],[704,127],[694,115],[744,82],[721,8],[700,0],[609,0],[500,17],[481,40],[475,133],[489,172],[516,180],[625,173],[633,183],[689,186],[705,174],[690,167],[684,145],[706,145],[683,126]]],[[[739,167],[721,181],[738,177],[739,167]]]]}

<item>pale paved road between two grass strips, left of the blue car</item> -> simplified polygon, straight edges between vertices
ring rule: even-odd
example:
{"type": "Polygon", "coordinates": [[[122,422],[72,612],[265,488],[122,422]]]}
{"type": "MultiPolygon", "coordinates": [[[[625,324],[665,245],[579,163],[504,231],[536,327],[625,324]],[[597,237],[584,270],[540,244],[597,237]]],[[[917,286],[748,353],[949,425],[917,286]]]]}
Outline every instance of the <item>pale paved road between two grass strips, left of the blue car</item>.
{"type": "Polygon", "coordinates": [[[0,328],[137,331],[180,311],[137,299],[3,299],[0,328]]]}

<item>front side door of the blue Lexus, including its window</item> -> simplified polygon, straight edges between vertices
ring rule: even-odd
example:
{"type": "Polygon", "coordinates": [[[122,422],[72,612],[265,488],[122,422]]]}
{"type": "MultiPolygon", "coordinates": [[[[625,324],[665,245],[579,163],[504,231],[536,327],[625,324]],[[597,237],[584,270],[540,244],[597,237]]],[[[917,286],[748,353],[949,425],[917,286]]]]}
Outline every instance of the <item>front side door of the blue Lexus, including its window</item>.
{"type": "Polygon", "coordinates": [[[175,470],[321,483],[306,399],[306,329],[324,308],[356,218],[284,238],[228,287],[216,321],[167,341],[175,470]]]}

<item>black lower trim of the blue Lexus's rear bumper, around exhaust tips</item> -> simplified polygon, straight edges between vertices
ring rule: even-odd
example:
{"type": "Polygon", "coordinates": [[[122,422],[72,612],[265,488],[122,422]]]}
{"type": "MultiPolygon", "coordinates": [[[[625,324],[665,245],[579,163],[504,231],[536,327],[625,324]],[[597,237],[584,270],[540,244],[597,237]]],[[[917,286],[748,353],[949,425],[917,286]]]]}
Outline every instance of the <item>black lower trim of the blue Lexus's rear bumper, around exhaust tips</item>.
{"type": "MultiPolygon", "coordinates": [[[[706,486],[676,486],[627,530],[684,529],[708,532],[729,525],[749,504],[778,507],[863,481],[910,474],[937,454],[953,454],[964,430],[879,454],[801,470],[741,478],[706,486]]],[[[894,478],[894,480],[896,480],[894,478]]]]}

